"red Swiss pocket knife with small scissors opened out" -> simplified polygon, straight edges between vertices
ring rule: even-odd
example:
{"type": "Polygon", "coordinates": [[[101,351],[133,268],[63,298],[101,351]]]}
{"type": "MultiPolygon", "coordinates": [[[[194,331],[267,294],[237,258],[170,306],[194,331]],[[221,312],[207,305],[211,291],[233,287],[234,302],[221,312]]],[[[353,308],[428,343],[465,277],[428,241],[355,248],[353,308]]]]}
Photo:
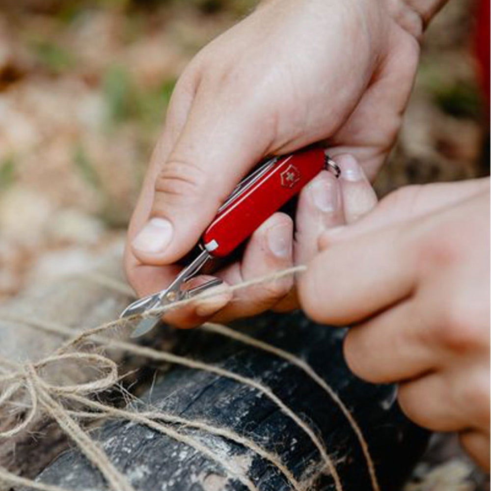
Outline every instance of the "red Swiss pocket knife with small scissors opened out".
{"type": "MultiPolygon", "coordinates": [[[[203,233],[201,252],[191,264],[165,290],[136,300],[126,307],[120,317],[143,312],[151,314],[149,311],[153,309],[191,298],[220,284],[221,280],[216,278],[198,287],[186,288],[186,282],[199,273],[210,258],[230,254],[324,168],[333,171],[336,177],[340,174],[339,167],[320,147],[275,157],[260,165],[237,185],[220,206],[216,217],[203,233]]],[[[145,334],[158,322],[157,313],[142,319],[132,337],[145,334]]]]}

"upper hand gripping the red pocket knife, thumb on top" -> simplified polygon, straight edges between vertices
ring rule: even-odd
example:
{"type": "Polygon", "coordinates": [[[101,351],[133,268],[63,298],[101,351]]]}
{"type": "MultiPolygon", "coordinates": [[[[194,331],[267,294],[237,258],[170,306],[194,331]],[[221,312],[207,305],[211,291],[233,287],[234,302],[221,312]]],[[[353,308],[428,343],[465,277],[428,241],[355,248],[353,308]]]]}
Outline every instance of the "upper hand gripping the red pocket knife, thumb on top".
{"type": "MultiPolygon", "coordinates": [[[[354,154],[373,177],[401,124],[420,33],[420,17],[402,0],[273,0],[205,47],[176,85],[131,220],[125,264],[136,292],[169,284],[178,271],[173,263],[265,155],[326,139],[332,156],[354,154]]],[[[327,178],[318,182],[328,201],[327,178]]],[[[295,250],[316,248],[300,241],[316,243],[325,223],[311,220],[309,226],[295,250]]],[[[271,217],[251,238],[243,261],[223,274],[226,280],[305,258],[292,252],[292,234],[289,218],[271,217]]],[[[234,301],[233,316],[270,308],[291,287],[285,280],[256,289],[249,300],[234,301]]],[[[209,305],[206,314],[222,304],[209,305]]],[[[191,326],[204,314],[188,309],[166,320],[191,326]]]]}

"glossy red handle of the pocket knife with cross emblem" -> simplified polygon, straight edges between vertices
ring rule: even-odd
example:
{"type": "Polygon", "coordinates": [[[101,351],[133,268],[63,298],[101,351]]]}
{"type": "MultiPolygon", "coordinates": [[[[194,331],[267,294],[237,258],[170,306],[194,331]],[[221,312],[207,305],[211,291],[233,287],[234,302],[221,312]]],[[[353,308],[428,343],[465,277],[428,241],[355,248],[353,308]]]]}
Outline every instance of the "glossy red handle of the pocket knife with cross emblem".
{"type": "Polygon", "coordinates": [[[230,254],[324,165],[324,150],[319,147],[280,157],[254,184],[222,207],[203,234],[205,248],[214,257],[230,254]]]}

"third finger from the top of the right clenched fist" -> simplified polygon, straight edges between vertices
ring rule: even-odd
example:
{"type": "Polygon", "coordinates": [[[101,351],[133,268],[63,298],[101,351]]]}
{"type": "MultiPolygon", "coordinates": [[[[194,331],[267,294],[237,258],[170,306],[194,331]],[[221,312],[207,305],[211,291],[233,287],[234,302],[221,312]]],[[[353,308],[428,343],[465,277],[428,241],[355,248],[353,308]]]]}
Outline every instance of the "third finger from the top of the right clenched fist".
{"type": "Polygon", "coordinates": [[[471,411],[456,382],[442,372],[400,384],[397,396],[402,411],[423,428],[459,431],[470,423],[471,411]]]}

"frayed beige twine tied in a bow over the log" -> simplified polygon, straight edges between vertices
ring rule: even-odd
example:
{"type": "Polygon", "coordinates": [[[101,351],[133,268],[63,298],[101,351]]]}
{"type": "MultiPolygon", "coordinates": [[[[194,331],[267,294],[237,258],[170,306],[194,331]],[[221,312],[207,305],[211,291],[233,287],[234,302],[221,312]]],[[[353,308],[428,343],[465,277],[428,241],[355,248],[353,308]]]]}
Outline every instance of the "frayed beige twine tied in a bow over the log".
{"type": "MultiPolygon", "coordinates": [[[[245,289],[250,286],[275,281],[281,277],[299,273],[304,270],[304,266],[296,266],[287,270],[266,275],[260,278],[254,278],[252,280],[230,286],[229,291],[234,292],[236,290],[245,289]]],[[[129,293],[128,287],[121,284],[117,280],[105,278],[103,275],[91,274],[85,275],[85,277],[91,281],[118,291],[119,293],[129,293]]],[[[169,426],[175,426],[177,424],[180,425],[181,428],[195,428],[213,435],[230,439],[231,441],[235,441],[236,443],[243,445],[247,449],[255,452],[257,455],[261,456],[262,458],[273,464],[278,469],[278,471],[283,474],[293,490],[308,490],[311,484],[310,479],[308,480],[308,482],[300,483],[293,476],[287,466],[281,462],[279,456],[265,450],[250,438],[238,435],[236,432],[228,428],[218,428],[206,421],[188,420],[186,418],[159,410],[135,412],[127,409],[117,409],[89,399],[87,397],[89,394],[94,394],[103,390],[107,390],[109,387],[114,386],[118,382],[117,366],[112,360],[109,360],[109,358],[97,354],[69,352],[69,350],[75,349],[85,339],[90,337],[91,341],[94,341],[99,345],[109,346],[111,349],[120,349],[129,353],[133,353],[135,355],[152,358],[154,360],[166,361],[186,366],[192,369],[204,370],[210,373],[214,373],[219,377],[225,377],[238,383],[248,385],[255,390],[260,391],[266,397],[268,397],[285,415],[290,417],[301,428],[301,430],[309,436],[321,455],[325,470],[329,472],[334,481],[335,490],[343,491],[343,486],[337,473],[336,466],[327,454],[324,443],[315,434],[315,432],[310,428],[308,424],[306,424],[292,409],[290,409],[280,398],[278,398],[273,393],[270,387],[261,382],[257,382],[253,379],[241,376],[215,365],[210,365],[204,362],[192,360],[190,358],[174,355],[171,353],[159,352],[152,348],[135,345],[125,341],[114,340],[101,335],[101,333],[110,331],[111,329],[126,327],[130,323],[130,321],[147,317],[160,316],[168,310],[182,307],[199,299],[212,298],[216,295],[220,295],[221,293],[222,292],[217,291],[204,292],[194,297],[193,299],[181,300],[169,305],[165,305],[163,307],[152,309],[142,314],[135,314],[125,319],[117,319],[102,324],[101,326],[83,332],[78,332],[75,337],[73,337],[74,332],[72,329],[69,329],[65,326],[60,326],[53,322],[41,321],[37,319],[25,319],[13,315],[2,314],[1,319],[5,321],[25,324],[34,328],[44,330],[46,332],[55,333],[71,339],[69,339],[68,342],[62,345],[61,348],[56,350],[55,354],[48,356],[47,358],[38,361],[35,364],[21,365],[13,363],[10,360],[0,358],[0,373],[2,374],[0,375],[0,382],[2,382],[3,384],[8,384],[7,388],[0,396],[0,407],[7,404],[8,402],[12,402],[12,399],[14,399],[16,393],[18,393],[21,389],[24,389],[27,392],[27,395],[30,399],[27,415],[24,416],[22,421],[14,425],[13,428],[0,433],[0,437],[14,436],[25,431],[33,422],[38,412],[42,411],[55,419],[60,428],[77,443],[77,445],[81,448],[82,452],[89,459],[89,461],[99,469],[111,490],[134,491],[132,486],[125,480],[124,476],[119,473],[119,471],[111,464],[106,454],[76,422],[77,419],[82,418],[107,417],[127,419],[145,425],[155,431],[163,433],[166,436],[169,436],[177,441],[189,445],[196,451],[202,453],[212,461],[219,464],[219,466],[225,471],[227,478],[234,478],[239,480],[249,491],[258,491],[255,485],[247,477],[246,469],[243,469],[239,464],[234,464],[230,461],[224,463],[223,458],[220,458],[220,456],[218,456],[213,450],[198,441],[196,438],[169,426]],[[72,359],[79,362],[89,362],[91,367],[97,366],[102,372],[105,372],[106,374],[90,382],[75,385],[50,384],[43,379],[42,369],[44,367],[46,367],[50,363],[67,359],[72,359]],[[67,409],[64,406],[63,401],[71,401],[72,403],[77,403],[79,406],[84,406],[86,409],[92,409],[92,411],[82,409],[67,409]],[[163,424],[161,421],[164,421],[167,424],[163,424]]],[[[375,475],[373,461],[370,457],[368,446],[361,433],[360,428],[356,424],[356,421],[349,410],[340,400],[339,396],[337,396],[332,388],[314,372],[310,365],[308,365],[304,360],[296,357],[295,355],[280,350],[279,348],[276,348],[274,346],[268,345],[267,343],[264,343],[262,341],[246,336],[245,334],[238,333],[232,329],[229,329],[228,327],[207,324],[205,325],[205,329],[217,334],[228,336],[250,346],[268,351],[273,355],[282,357],[283,359],[286,359],[290,363],[301,368],[315,382],[323,387],[327,394],[334,401],[334,403],[342,410],[349,424],[353,428],[356,436],[358,437],[360,446],[367,461],[367,466],[372,481],[372,488],[374,491],[380,491],[380,487],[375,475]]],[[[14,474],[3,468],[0,468],[0,481],[5,481],[11,484],[22,484],[23,486],[29,486],[33,489],[42,491],[68,491],[61,487],[45,485],[44,483],[39,483],[36,481],[31,481],[29,479],[21,478],[19,476],[15,476],[14,474]]]]}

